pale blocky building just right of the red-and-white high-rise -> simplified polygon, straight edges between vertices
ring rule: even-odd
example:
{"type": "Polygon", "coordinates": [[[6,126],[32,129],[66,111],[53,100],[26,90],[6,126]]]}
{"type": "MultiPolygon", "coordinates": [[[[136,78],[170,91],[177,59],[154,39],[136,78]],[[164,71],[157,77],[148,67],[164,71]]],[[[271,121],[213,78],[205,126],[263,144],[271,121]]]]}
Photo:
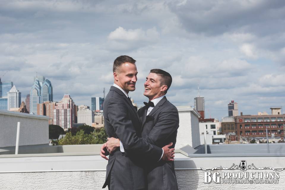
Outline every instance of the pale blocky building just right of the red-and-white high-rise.
{"type": "Polygon", "coordinates": [[[77,122],[92,126],[92,123],[94,123],[94,111],[91,111],[88,107],[85,105],[78,106],[77,122]]]}

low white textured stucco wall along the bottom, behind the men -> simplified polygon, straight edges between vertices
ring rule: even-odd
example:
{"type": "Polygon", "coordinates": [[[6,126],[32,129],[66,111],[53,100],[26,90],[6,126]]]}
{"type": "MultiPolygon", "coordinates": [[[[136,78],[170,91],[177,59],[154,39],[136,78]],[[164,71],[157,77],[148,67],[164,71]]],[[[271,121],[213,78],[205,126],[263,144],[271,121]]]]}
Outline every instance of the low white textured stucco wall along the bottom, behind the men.
{"type": "MultiPolygon", "coordinates": [[[[227,172],[228,170],[222,170],[227,172]]],[[[239,171],[239,170],[233,170],[239,171]]],[[[231,172],[233,172],[231,171],[231,172]]],[[[252,170],[254,171],[254,170],[252,170]]],[[[285,171],[280,172],[278,184],[218,184],[204,183],[202,170],[175,170],[179,190],[206,189],[284,189],[285,171]]],[[[221,172],[221,170],[219,170],[221,172]]],[[[99,190],[105,171],[0,173],[1,189],[81,189],[99,190]]]]}

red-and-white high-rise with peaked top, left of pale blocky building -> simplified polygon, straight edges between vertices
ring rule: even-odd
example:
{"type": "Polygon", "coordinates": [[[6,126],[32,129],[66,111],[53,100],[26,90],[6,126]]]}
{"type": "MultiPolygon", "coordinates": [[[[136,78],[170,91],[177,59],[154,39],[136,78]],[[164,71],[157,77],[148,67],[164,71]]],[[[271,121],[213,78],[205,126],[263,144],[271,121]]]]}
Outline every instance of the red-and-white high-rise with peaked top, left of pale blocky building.
{"type": "Polygon", "coordinates": [[[75,123],[75,105],[69,94],[64,94],[60,102],[56,103],[53,110],[53,124],[59,125],[64,130],[72,128],[75,123]]]}

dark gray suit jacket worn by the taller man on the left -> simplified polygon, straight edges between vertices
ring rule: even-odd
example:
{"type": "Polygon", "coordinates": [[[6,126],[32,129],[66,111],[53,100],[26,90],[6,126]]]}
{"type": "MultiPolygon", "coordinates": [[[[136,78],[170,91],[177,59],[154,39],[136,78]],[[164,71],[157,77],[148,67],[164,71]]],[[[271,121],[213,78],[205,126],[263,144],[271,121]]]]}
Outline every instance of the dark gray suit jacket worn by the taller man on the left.
{"type": "Polygon", "coordinates": [[[126,153],[119,148],[109,156],[106,186],[111,190],[145,188],[141,159],[157,162],[162,149],[145,142],[141,137],[141,121],[130,100],[118,88],[111,86],[103,104],[105,130],[108,137],[119,138],[126,153]]]}

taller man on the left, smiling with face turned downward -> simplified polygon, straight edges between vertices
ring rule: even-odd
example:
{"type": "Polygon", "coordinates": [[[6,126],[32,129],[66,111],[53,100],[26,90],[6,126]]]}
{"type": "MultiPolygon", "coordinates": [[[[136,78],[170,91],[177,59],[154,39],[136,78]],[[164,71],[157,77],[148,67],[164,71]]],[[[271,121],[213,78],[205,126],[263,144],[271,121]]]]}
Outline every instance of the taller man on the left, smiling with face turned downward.
{"type": "Polygon", "coordinates": [[[140,137],[142,124],[128,97],[129,91],[135,90],[137,81],[135,60],[129,56],[116,58],[113,76],[114,84],[105,98],[103,114],[106,133],[108,137],[120,139],[115,141],[120,148],[113,149],[110,142],[102,145],[100,155],[103,158],[107,159],[104,153],[110,152],[103,188],[108,186],[111,190],[145,189],[141,160],[150,163],[160,160],[173,161],[174,148],[169,148],[172,143],[158,147],[140,137]]]}

